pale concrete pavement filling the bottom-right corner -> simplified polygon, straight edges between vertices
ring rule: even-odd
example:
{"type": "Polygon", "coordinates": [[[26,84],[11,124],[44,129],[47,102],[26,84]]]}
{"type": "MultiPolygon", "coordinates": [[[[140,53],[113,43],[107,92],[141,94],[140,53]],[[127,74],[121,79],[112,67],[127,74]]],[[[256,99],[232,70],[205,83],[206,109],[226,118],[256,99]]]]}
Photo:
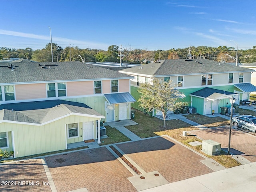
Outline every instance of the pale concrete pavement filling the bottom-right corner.
{"type": "Polygon", "coordinates": [[[186,180],[165,184],[143,191],[154,192],[254,192],[256,162],[212,172],[186,180]]]}

